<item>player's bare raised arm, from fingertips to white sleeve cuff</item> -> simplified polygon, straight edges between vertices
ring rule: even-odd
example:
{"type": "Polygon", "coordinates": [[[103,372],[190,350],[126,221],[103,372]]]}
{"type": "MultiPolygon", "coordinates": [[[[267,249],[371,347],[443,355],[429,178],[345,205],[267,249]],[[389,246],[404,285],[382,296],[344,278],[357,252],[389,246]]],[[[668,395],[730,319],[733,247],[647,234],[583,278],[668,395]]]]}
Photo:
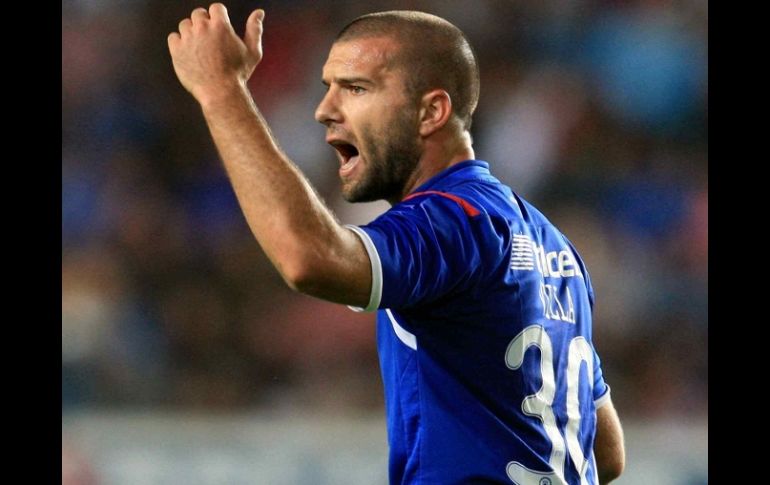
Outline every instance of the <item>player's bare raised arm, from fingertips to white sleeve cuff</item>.
{"type": "Polygon", "coordinates": [[[265,13],[254,10],[241,39],[227,9],[197,8],[168,36],[179,81],[200,103],[252,232],[294,289],[366,306],[369,257],[273,139],[247,88],[262,60],[265,13]]]}

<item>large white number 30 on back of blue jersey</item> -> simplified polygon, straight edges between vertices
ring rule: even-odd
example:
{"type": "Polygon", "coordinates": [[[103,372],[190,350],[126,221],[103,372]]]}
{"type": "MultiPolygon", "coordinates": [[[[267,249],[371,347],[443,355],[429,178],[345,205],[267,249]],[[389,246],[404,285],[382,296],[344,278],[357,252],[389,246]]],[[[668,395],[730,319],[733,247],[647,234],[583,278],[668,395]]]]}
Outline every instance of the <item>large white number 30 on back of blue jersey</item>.
{"type": "Polygon", "coordinates": [[[588,462],[578,440],[580,429],[580,407],[578,403],[578,379],[580,364],[586,362],[589,386],[593,388],[594,354],[591,345],[583,337],[575,337],[569,344],[567,359],[567,427],[564,436],[556,425],[553,400],[556,395],[554,378],[553,347],[551,338],[540,325],[531,325],[521,331],[505,352],[505,364],[511,370],[518,370],[524,362],[524,354],[531,346],[540,348],[540,372],[543,385],[535,394],[524,398],[521,408],[530,416],[537,416],[543,423],[545,433],[551,441],[551,457],[548,460],[551,471],[530,470],[521,463],[511,461],[506,467],[508,478],[517,485],[567,485],[564,479],[565,449],[569,451],[572,463],[580,475],[580,484],[588,485],[586,472],[588,462]]]}

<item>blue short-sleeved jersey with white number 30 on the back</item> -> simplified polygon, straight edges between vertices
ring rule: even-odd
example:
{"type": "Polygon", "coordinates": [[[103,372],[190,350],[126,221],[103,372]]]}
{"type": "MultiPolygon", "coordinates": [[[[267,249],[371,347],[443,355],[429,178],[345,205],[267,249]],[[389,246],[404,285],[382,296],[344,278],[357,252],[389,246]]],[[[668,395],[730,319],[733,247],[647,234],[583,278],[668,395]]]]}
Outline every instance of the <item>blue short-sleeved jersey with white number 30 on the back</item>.
{"type": "Polygon", "coordinates": [[[391,484],[595,485],[593,290],[575,248],[469,160],[359,234],[391,484]]]}

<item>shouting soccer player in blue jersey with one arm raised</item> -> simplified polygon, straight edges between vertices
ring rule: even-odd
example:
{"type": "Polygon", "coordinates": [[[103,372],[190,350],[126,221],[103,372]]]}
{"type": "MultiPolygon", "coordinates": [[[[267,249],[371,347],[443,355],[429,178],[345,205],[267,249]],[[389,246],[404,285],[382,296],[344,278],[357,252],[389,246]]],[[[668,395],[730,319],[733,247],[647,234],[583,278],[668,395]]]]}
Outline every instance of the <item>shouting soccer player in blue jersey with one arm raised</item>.
{"type": "Polygon", "coordinates": [[[477,62],[463,33],[419,12],[360,17],[335,39],[316,119],[350,202],[341,225],[281,151],[246,86],[265,13],[239,38],[220,3],[168,37],[259,244],[300,292],[377,310],[394,484],[597,484],[623,435],[591,339],[575,248],[475,159],[477,62]]]}

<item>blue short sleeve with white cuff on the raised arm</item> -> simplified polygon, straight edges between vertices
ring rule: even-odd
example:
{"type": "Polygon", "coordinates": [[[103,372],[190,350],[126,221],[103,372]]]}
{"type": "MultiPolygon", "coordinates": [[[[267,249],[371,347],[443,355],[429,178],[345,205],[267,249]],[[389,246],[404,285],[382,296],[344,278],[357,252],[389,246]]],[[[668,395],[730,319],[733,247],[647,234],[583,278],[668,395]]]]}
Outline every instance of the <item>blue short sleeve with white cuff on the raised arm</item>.
{"type": "Polygon", "coordinates": [[[401,203],[356,232],[372,263],[366,311],[408,308],[465,288],[481,266],[474,217],[453,199],[401,203]]]}

